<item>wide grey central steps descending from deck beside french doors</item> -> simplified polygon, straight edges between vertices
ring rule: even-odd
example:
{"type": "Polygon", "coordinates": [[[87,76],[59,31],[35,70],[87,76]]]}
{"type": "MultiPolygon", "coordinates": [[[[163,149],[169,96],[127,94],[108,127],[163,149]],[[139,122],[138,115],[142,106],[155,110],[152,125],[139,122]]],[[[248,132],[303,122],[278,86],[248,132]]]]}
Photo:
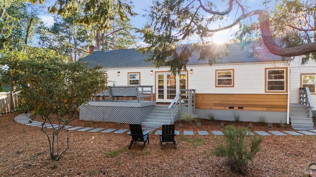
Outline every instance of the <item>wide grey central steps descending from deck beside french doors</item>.
{"type": "Polygon", "coordinates": [[[159,128],[163,124],[171,124],[171,109],[168,105],[155,105],[154,109],[147,115],[142,125],[144,130],[159,128]]]}

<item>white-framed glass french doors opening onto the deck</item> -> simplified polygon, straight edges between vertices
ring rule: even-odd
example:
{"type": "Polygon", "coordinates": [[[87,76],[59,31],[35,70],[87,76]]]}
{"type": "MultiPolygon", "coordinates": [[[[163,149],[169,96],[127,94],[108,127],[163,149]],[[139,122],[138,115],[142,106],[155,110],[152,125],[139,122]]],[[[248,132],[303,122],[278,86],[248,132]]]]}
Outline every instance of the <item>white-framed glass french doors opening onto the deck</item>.
{"type": "Polygon", "coordinates": [[[180,89],[187,88],[187,73],[173,75],[171,72],[156,74],[156,102],[171,103],[180,89]]]}

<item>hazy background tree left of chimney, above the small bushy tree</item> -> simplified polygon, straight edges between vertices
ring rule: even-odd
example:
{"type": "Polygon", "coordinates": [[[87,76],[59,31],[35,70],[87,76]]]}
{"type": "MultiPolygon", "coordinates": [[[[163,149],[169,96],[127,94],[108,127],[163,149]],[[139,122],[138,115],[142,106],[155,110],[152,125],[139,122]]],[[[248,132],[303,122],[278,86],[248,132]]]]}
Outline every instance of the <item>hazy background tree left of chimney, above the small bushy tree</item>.
{"type": "Polygon", "coordinates": [[[54,17],[54,24],[40,30],[41,47],[59,51],[72,61],[77,61],[88,53],[88,47],[93,38],[90,29],[85,25],[76,23],[76,17],[54,17]]]}

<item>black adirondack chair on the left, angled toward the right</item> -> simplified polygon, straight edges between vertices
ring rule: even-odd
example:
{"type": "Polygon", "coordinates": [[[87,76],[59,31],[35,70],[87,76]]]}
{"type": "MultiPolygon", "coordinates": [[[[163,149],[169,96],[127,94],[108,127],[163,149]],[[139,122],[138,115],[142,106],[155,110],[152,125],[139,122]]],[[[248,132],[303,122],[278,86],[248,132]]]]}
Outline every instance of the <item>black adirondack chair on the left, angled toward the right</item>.
{"type": "Polygon", "coordinates": [[[144,142],[142,149],[145,147],[146,141],[148,141],[149,144],[149,133],[150,131],[144,131],[142,130],[142,126],[140,124],[129,124],[130,129],[130,136],[132,136],[132,140],[130,141],[130,144],[128,148],[132,146],[134,142],[144,142]]]}

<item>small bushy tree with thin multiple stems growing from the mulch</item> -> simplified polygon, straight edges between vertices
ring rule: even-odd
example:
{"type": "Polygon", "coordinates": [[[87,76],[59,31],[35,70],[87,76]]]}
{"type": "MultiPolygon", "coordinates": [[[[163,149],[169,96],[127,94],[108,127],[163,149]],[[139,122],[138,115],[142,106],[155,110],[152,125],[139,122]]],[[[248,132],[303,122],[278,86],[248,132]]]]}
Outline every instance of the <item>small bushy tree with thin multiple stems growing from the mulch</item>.
{"type": "Polygon", "coordinates": [[[103,71],[98,67],[88,68],[80,62],[65,62],[63,56],[48,49],[14,49],[2,53],[0,64],[9,67],[1,73],[2,79],[19,86],[18,109],[21,112],[31,112],[33,120],[40,116],[41,131],[49,143],[50,159],[58,160],[69,149],[66,125],[76,117],[79,106],[103,89],[106,83],[103,71]],[[53,123],[58,126],[48,129],[53,123]],[[63,130],[67,136],[64,149],[59,146],[59,135],[63,130]]]}

